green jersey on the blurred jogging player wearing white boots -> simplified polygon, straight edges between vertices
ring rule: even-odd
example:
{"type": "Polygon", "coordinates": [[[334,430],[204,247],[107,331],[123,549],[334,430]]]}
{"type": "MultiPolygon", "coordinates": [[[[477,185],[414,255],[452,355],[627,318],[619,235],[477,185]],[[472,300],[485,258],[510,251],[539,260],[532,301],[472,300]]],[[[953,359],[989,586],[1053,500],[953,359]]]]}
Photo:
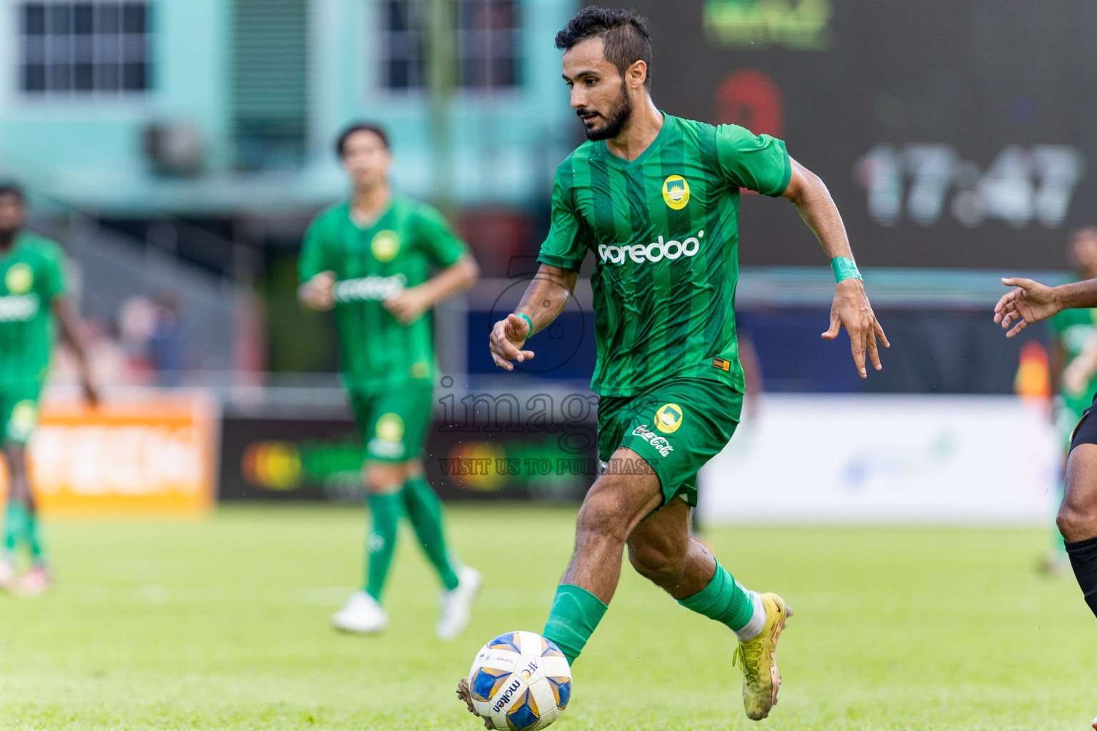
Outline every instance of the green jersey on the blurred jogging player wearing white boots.
{"type": "Polygon", "coordinates": [[[340,370],[348,385],[369,389],[434,378],[431,315],[404,325],[383,302],[430,278],[432,265],[450,266],[466,251],[440,213],[407,198],[394,197],[370,228],[351,219],[348,203],[316,217],[298,271],[302,282],[335,272],[340,370]]]}

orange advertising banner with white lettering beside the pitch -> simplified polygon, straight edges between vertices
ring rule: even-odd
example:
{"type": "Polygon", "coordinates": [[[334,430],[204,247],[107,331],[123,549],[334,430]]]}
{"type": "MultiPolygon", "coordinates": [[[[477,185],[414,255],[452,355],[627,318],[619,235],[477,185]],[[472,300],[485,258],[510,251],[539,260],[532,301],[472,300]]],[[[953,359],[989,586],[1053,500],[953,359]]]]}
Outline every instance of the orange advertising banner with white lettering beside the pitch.
{"type": "MultiPolygon", "coordinates": [[[[30,444],[44,513],[195,514],[214,503],[217,410],[201,393],[43,403],[30,444]]],[[[8,470],[0,470],[7,492],[8,470]]]]}

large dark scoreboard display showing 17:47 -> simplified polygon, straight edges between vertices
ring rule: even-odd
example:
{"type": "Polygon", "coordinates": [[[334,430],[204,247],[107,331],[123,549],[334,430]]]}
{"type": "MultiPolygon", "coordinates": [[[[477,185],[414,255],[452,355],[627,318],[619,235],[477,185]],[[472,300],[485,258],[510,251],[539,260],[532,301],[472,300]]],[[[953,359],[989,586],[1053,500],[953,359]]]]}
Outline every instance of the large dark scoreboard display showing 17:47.
{"type": "MultiPolygon", "coordinates": [[[[1097,224],[1097,3],[629,0],[659,108],[787,140],[862,266],[1066,266],[1097,224]]],[[[743,196],[744,264],[818,264],[800,217],[743,196]]]]}

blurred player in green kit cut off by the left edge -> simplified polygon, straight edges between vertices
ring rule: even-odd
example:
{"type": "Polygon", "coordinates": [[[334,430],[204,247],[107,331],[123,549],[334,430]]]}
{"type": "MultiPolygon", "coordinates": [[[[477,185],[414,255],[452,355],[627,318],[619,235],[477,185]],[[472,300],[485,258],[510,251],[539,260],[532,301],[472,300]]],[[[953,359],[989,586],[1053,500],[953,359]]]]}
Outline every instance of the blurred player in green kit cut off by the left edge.
{"type": "Polygon", "coordinates": [[[99,399],[80,321],[66,296],[65,254],[54,241],[23,230],[25,218],[22,190],[0,184],[0,429],[9,476],[0,587],[34,595],[49,586],[50,573],[26,469],[26,443],[38,422],[38,396],[49,374],[55,330],[72,349],[88,401],[99,399]],[[31,557],[22,576],[15,561],[20,548],[31,557]]]}

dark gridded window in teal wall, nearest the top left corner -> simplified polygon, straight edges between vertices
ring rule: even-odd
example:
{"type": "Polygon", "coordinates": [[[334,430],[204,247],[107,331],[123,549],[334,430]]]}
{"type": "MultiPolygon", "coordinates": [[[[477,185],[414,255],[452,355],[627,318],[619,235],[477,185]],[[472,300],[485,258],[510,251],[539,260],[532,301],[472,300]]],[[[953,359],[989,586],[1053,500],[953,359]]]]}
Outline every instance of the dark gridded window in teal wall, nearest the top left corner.
{"type": "Polygon", "coordinates": [[[149,2],[23,2],[20,89],[68,96],[151,85],[149,2]]]}

